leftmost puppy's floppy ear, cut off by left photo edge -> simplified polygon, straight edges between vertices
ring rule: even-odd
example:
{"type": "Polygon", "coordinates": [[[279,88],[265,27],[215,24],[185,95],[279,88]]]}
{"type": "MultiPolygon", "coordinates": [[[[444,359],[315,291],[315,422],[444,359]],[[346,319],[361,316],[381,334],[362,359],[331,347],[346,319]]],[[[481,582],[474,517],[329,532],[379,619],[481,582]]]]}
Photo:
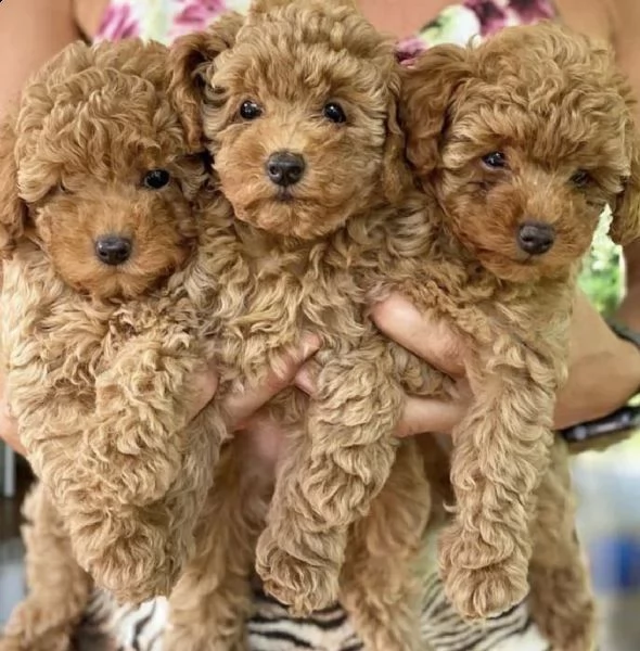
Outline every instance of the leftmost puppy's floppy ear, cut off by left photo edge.
{"type": "Polygon", "coordinates": [[[27,207],[17,194],[15,117],[0,123],[0,258],[11,257],[25,231],[27,207]]]}

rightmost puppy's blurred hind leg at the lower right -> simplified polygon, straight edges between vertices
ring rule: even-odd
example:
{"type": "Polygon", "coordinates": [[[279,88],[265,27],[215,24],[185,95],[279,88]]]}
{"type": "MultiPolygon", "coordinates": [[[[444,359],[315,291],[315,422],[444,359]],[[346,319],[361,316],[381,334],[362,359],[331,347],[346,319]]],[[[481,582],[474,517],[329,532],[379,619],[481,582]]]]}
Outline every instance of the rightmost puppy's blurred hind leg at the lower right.
{"type": "Polygon", "coordinates": [[[559,437],[537,495],[529,566],[532,616],[553,649],[591,651],[596,644],[596,609],[575,531],[568,451],[559,437]]]}

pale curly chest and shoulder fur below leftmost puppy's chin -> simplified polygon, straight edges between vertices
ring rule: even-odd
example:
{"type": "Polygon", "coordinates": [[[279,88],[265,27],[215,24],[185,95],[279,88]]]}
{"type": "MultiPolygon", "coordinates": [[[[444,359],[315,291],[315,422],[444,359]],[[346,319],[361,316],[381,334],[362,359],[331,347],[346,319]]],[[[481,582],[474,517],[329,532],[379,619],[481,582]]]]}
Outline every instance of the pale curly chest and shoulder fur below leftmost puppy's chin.
{"type": "Polygon", "coordinates": [[[195,309],[180,285],[148,301],[97,303],[65,285],[39,250],[18,251],[5,263],[3,363],[11,407],[26,423],[25,435],[35,425],[29,414],[44,404],[62,410],[65,400],[86,401],[92,409],[95,378],[139,335],[178,341],[185,355],[202,355],[195,309]]]}

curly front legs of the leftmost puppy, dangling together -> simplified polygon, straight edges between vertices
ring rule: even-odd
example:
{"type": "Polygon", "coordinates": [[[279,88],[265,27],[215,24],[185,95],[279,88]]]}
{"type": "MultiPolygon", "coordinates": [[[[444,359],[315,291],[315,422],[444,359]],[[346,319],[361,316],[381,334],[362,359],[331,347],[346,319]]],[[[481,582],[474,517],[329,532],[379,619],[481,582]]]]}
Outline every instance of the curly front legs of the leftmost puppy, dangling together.
{"type": "Polygon", "coordinates": [[[225,436],[214,407],[188,422],[204,361],[193,342],[165,323],[128,342],[97,379],[98,426],[78,455],[84,490],[65,501],[75,498],[78,560],[121,600],[167,595],[193,551],[225,436]]]}

